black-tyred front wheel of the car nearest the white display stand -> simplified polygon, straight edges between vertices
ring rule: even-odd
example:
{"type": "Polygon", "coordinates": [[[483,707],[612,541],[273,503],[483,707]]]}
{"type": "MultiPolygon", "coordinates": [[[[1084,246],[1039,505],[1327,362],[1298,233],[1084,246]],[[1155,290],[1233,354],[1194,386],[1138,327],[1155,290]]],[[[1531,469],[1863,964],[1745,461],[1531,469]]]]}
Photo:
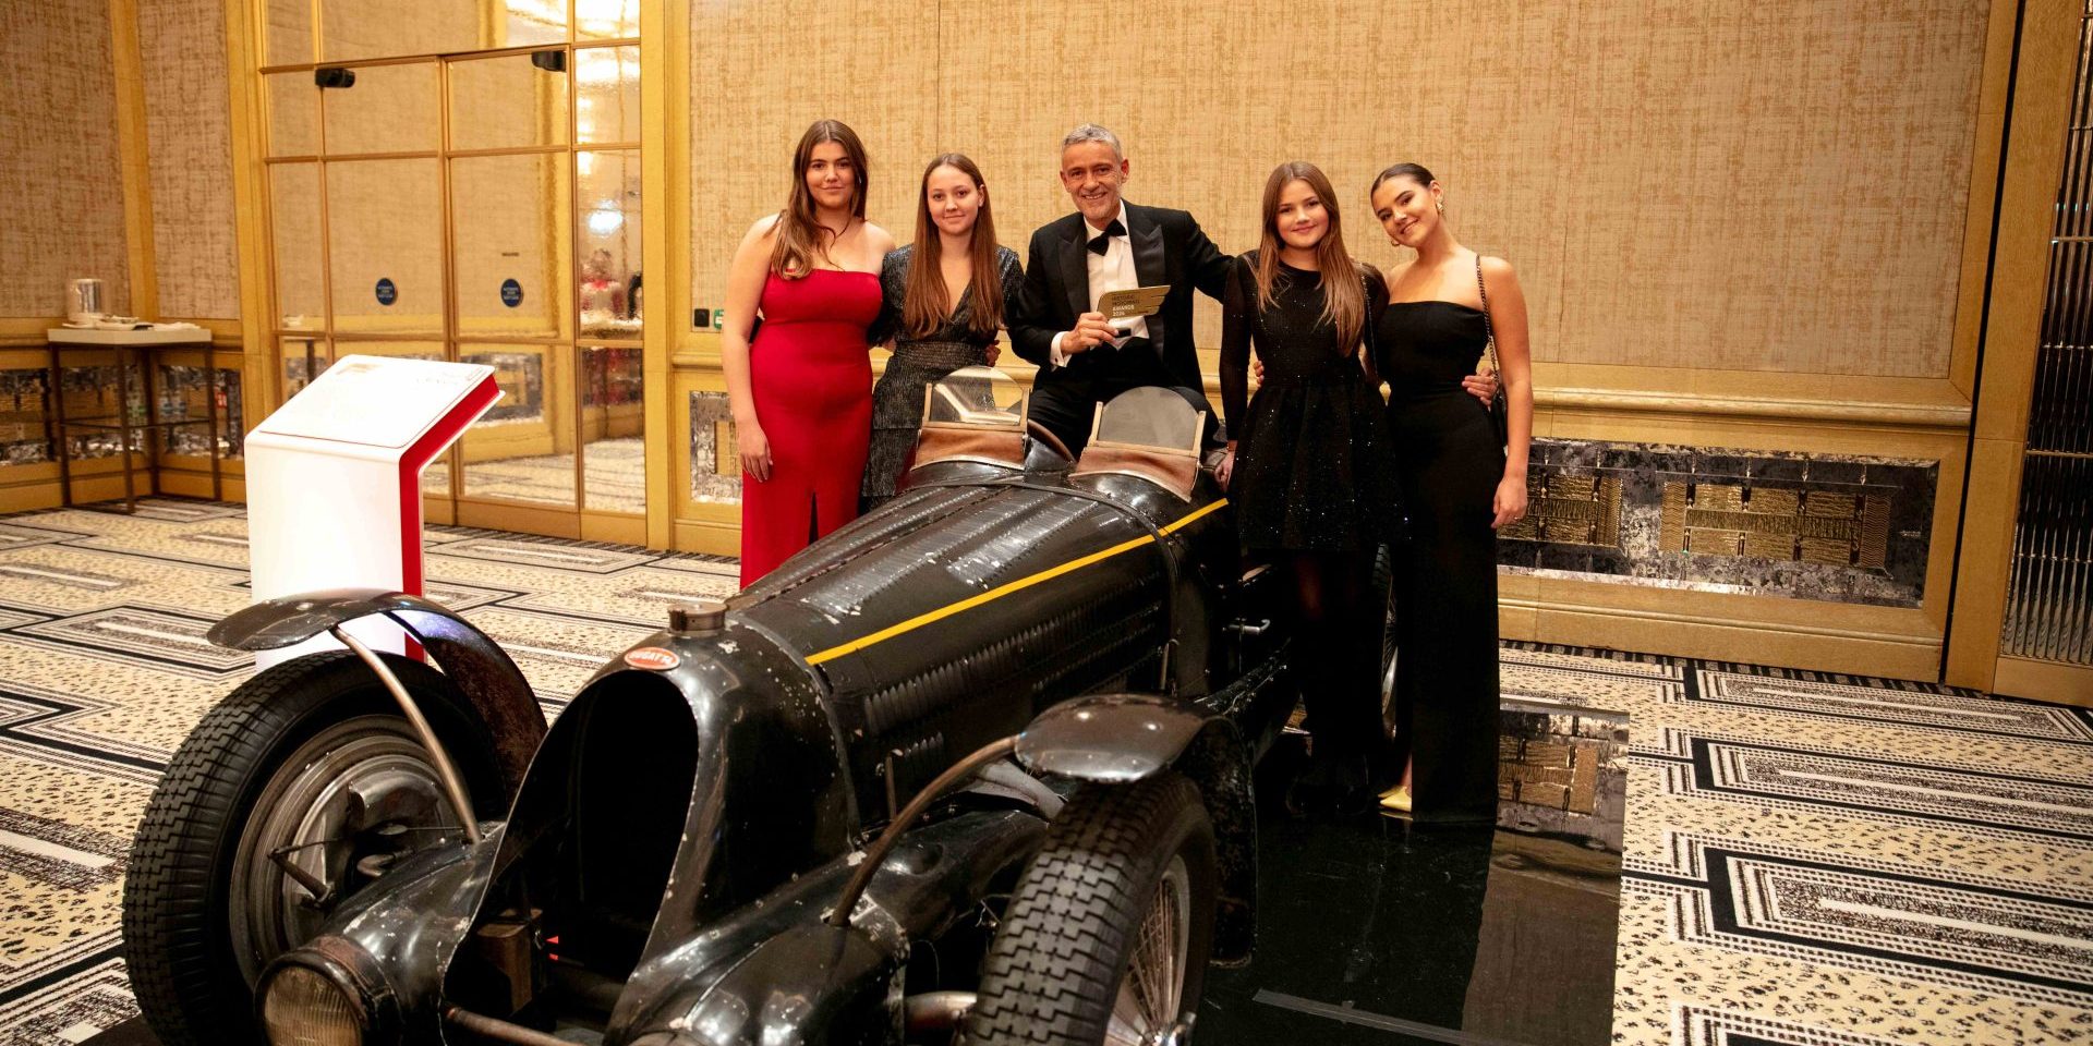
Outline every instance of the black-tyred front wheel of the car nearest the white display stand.
{"type": "MultiPolygon", "coordinates": [[[[494,738],[465,695],[419,661],[381,657],[458,764],[477,816],[500,816],[507,795],[494,738]]],[[[364,795],[385,799],[387,812],[406,810],[387,816],[387,824],[456,824],[400,705],[347,651],[299,657],[257,674],[182,741],[147,801],[123,881],[123,962],[138,1008],[165,1046],[262,1040],[253,1017],[255,977],[324,918],[324,912],[301,914],[283,900],[310,891],[295,887],[268,854],[303,835],[341,839],[370,828],[329,822],[364,795]],[[427,776],[427,791],[421,776],[427,776]],[[347,797],[352,787],[356,797],[347,797]]],[[[460,833],[398,837],[433,843],[460,833]]],[[[362,854],[360,845],[312,847],[316,854],[297,858],[339,883],[329,910],[360,883],[347,868],[362,854]]]]}

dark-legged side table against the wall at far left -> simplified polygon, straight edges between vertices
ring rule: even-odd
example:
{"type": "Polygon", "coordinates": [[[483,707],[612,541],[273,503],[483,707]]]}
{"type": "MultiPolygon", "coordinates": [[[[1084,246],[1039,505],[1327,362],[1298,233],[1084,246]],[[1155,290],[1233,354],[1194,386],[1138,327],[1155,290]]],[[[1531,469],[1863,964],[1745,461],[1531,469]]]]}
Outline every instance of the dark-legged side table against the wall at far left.
{"type": "Polygon", "coordinates": [[[138,487],[132,479],[132,437],[134,433],[144,433],[147,446],[147,475],[151,479],[149,494],[159,494],[159,454],[165,444],[165,431],[184,425],[209,425],[211,448],[211,498],[222,498],[222,481],[218,475],[218,351],[211,345],[211,333],[205,328],[144,328],[144,331],[98,331],[98,328],[75,328],[75,326],[52,326],[46,331],[46,345],[50,347],[50,412],[46,414],[52,425],[52,437],[59,444],[59,496],[63,504],[73,504],[73,441],[67,439],[67,429],[94,429],[117,433],[117,462],[123,469],[123,510],[138,510],[138,487]],[[203,418],[161,418],[159,416],[159,395],[155,391],[155,351],[159,349],[203,349],[203,372],[205,391],[203,397],[203,418]],[[61,356],[71,349],[113,349],[117,356],[117,412],[115,414],[94,414],[86,418],[65,416],[65,372],[61,356]],[[138,368],[138,381],[144,391],[144,420],[132,418],[132,366],[138,368]]]}

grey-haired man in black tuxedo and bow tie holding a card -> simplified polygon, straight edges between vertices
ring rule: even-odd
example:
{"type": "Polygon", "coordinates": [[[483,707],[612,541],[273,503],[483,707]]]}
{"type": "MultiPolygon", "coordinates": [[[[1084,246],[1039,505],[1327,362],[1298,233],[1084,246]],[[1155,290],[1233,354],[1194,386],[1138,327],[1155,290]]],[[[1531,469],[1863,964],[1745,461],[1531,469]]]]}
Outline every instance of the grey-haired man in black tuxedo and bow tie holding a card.
{"type": "Polygon", "coordinates": [[[1032,418],[1082,454],[1097,404],[1139,385],[1164,385],[1214,408],[1193,351],[1191,295],[1216,301],[1229,255],[1185,211],[1120,199],[1128,163],[1120,138],[1084,123],[1061,140],[1061,188],[1076,213],[1032,234],[1026,285],[1011,316],[1011,347],[1038,364],[1032,418]],[[1170,285],[1162,310],[1111,322],[1099,312],[1109,291],[1170,285]]]}

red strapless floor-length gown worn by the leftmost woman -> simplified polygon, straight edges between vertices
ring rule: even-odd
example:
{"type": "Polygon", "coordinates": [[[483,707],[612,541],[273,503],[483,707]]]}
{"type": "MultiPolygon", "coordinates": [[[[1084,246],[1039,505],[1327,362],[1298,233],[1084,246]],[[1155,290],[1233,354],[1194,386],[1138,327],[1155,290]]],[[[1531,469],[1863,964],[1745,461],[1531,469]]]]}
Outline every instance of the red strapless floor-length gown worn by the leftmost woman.
{"type": "Polygon", "coordinates": [[[770,437],[770,479],[741,477],[743,588],[858,517],[873,437],[864,331],[879,318],[879,276],[818,268],[787,280],[772,272],[762,314],[749,387],[770,437]]]}

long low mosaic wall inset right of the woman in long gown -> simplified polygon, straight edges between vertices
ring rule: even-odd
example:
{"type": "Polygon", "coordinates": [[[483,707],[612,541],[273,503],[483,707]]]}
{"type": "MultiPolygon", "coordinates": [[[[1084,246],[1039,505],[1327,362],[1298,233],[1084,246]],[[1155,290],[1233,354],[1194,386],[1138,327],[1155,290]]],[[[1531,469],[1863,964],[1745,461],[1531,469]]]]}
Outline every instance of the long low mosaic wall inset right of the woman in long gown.
{"type": "Polygon", "coordinates": [[[1700,592],[1917,607],[1940,462],[1534,439],[1499,565],[1700,592]]]}

